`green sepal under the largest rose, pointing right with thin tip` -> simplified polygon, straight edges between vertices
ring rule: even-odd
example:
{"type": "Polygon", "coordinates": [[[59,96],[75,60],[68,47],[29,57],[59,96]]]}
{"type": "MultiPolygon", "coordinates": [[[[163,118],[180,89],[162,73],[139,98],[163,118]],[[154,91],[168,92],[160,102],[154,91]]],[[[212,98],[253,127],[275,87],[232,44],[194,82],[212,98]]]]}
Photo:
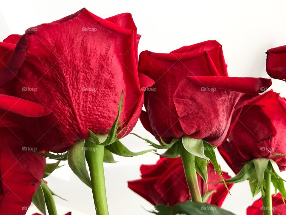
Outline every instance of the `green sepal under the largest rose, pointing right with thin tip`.
{"type": "Polygon", "coordinates": [[[111,145],[106,145],[105,148],[108,149],[108,151],[116,155],[120,155],[124,157],[133,157],[133,156],[145,154],[150,151],[156,151],[156,149],[148,149],[148,150],[144,150],[140,152],[132,152],[128,148],[126,148],[119,140],[116,140],[111,145]]]}

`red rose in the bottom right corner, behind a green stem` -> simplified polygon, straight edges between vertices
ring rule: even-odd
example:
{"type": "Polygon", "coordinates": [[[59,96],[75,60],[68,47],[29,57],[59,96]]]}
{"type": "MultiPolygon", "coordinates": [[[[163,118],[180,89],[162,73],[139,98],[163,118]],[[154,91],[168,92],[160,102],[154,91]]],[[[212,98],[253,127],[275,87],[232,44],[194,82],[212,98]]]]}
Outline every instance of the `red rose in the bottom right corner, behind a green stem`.
{"type": "MultiPolygon", "coordinates": [[[[277,195],[272,195],[272,208],[273,215],[286,215],[286,205],[282,200],[282,195],[277,193],[277,195]]],[[[263,211],[269,208],[262,206],[262,199],[259,199],[249,206],[246,210],[246,215],[263,215],[263,211]]]]}

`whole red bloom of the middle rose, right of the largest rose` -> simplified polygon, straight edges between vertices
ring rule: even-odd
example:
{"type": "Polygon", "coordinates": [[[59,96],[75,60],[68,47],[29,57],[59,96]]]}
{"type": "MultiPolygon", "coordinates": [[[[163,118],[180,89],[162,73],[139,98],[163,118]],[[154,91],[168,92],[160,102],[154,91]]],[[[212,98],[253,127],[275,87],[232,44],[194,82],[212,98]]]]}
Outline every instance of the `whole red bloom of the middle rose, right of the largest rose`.
{"type": "Polygon", "coordinates": [[[169,54],[144,51],[139,71],[155,81],[145,92],[147,112],[141,113],[140,120],[166,142],[187,134],[220,145],[240,111],[238,101],[271,85],[269,79],[227,77],[223,51],[216,41],[169,54]]]}

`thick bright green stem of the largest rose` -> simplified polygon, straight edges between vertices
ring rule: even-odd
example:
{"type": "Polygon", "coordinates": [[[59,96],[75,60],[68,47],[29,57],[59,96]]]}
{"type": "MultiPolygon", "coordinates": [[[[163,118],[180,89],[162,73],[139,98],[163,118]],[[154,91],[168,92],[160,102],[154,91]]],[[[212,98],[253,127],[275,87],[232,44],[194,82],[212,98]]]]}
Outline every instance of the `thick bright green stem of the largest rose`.
{"type": "Polygon", "coordinates": [[[105,178],[103,170],[104,146],[85,142],[86,161],[88,163],[91,179],[91,188],[94,206],[97,215],[108,215],[107,198],[105,191],[105,178]]]}

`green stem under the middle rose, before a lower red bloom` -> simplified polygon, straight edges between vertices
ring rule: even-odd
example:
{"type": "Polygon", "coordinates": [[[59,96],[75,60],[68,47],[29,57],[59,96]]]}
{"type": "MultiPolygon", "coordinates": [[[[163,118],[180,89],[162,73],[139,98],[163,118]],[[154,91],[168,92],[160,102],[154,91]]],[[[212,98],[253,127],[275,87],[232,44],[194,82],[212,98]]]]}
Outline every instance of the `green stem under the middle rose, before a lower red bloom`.
{"type": "Polygon", "coordinates": [[[194,202],[202,202],[202,196],[200,194],[200,187],[198,183],[197,172],[195,168],[195,155],[192,155],[184,148],[183,144],[180,144],[180,155],[184,165],[185,175],[192,200],[194,202]]]}

